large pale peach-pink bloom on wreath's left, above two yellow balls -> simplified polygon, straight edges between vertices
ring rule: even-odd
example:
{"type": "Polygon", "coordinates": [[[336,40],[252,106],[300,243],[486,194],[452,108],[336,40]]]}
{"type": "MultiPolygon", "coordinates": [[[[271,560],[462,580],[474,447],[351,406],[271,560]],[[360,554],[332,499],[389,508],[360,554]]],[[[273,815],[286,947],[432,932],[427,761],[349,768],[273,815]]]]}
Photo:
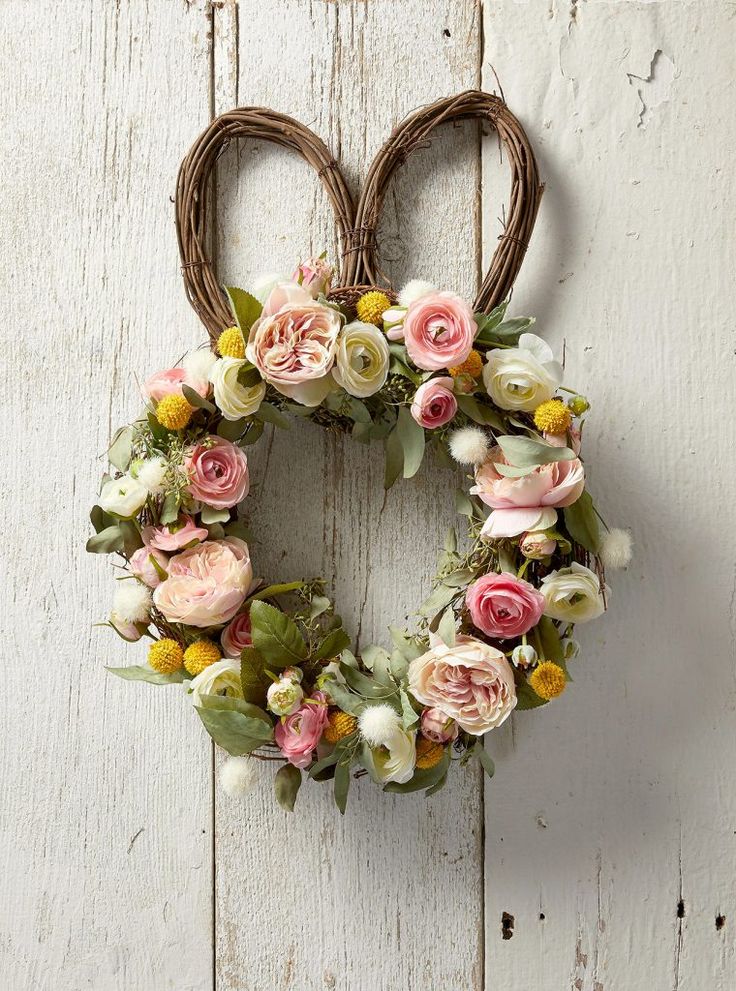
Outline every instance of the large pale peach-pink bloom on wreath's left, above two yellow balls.
{"type": "Polygon", "coordinates": [[[221,626],[242,606],[252,579],[247,544],[237,537],[206,540],[170,559],[153,602],[170,623],[221,626]]]}

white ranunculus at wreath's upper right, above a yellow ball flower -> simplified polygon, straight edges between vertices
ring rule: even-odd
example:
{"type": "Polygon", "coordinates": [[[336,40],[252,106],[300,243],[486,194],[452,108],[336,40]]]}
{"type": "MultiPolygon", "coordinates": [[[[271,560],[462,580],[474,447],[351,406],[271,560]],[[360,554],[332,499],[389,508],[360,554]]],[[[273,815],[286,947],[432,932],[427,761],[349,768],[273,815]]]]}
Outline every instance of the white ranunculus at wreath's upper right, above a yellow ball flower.
{"type": "Polygon", "coordinates": [[[533,413],[551,399],[562,382],[562,366],[536,334],[522,334],[519,346],[488,352],[483,368],[488,395],[501,409],[533,413]]]}

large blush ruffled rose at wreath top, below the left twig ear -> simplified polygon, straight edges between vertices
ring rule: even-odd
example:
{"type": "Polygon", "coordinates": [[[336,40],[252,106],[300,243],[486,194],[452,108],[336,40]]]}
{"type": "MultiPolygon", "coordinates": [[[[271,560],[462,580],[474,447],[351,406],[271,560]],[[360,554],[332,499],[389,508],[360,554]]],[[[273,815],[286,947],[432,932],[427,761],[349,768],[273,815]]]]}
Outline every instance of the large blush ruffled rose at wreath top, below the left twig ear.
{"type": "Polygon", "coordinates": [[[248,335],[246,356],[267,382],[304,406],[318,406],[333,385],[340,316],[301,286],[276,286],[248,335]],[[294,302],[293,300],[297,301],[294,302]],[[273,308],[287,300],[277,310],[273,308]]]}

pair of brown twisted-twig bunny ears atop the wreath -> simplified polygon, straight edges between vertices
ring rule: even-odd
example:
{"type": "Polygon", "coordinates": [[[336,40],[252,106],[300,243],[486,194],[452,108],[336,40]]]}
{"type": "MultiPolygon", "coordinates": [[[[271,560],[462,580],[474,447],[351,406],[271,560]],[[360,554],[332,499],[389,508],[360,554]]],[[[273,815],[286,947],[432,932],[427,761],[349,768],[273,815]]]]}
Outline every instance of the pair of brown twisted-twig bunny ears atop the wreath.
{"type": "Polygon", "coordinates": [[[340,167],[308,127],[262,107],[243,107],[216,118],[194,142],[179,169],[176,230],[189,302],[215,340],[232,315],[207,254],[207,204],[212,170],[230,141],[255,138],[292,148],[312,166],[335,214],[342,245],[340,288],[336,298],[354,301],[357,287],[380,283],[376,231],[386,190],[396,169],[418,147],[426,147],[440,124],[468,119],[487,121],[498,133],[511,169],[511,197],[504,233],[475,300],[489,312],[510,293],[524,260],[544,187],[529,140],[519,121],[497,96],[467,90],[415,111],[396,127],[376,155],[357,208],[340,167]]]}

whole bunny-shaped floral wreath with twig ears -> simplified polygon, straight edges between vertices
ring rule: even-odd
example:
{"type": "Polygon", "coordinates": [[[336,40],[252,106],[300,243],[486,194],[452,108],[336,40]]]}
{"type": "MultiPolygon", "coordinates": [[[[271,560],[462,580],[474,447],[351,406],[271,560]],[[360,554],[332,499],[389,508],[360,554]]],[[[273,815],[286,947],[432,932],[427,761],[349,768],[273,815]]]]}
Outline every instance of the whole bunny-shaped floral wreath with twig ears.
{"type": "MultiPolygon", "coordinates": [[[[145,409],[115,435],[87,544],[122,559],[109,625],[150,638],[146,663],[110,668],[179,683],[230,754],[221,781],[243,794],[256,759],[276,760],[278,801],[331,781],[344,812],[351,778],[385,791],[438,791],[451,764],[493,764],[483,736],[514,708],[546,705],[570,680],[576,623],[606,606],[603,565],[624,566],[629,535],[601,528],[580,445],[587,400],[508,300],[542,194],[534,154],[505,103],[440,100],[400,124],[354,204],[308,128],[270,110],[223,114],[182,163],[176,221],[187,295],[211,348],[145,383],[145,409]],[[448,286],[381,285],[375,231],[392,175],[444,122],[479,118],[511,168],[508,222],[471,305],[448,286]],[[288,276],[223,289],[208,258],[213,167],[234,139],[297,151],[335,211],[342,268],[324,257],[288,276]],[[337,282],[335,287],[333,283],[337,282]],[[467,537],[450,531],[412,629],[357,656],[320,580],[256,578],[247,518],[248,449],[266,424],[300,416],[385,451],[385,485],[425,451],[468,467],[457,494],[467,537]]],[[[256,544],[257,546],[257,544],[256,544]]]]}

